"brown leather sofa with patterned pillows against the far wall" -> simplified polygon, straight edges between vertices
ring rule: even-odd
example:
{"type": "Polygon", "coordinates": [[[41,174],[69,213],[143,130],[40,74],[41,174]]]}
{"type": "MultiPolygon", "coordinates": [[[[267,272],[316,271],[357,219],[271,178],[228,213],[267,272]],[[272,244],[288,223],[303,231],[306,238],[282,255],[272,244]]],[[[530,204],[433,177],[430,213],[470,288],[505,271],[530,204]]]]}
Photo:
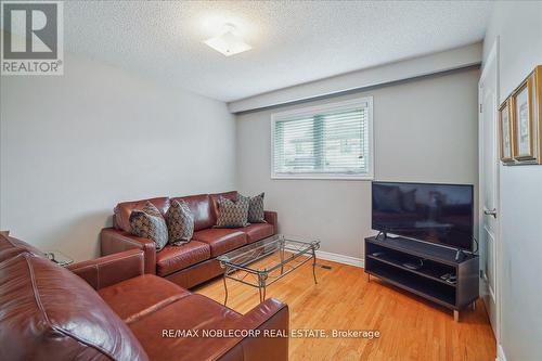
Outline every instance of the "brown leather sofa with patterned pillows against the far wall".
{"type": "Polygon", "coordinates": [[[274,211],[266,211],[267,223],[254,223],[241,229],[215,229],[212,225],[217,221],[218,199],[221,196],[235,201],[237,192],[119,203],[114,210],[113,228],[105,228],[101,232],[102,256],[133,248],[142,249],[145,255],[145,273],[166,278],[185,288],[222,274],[223,270],[216,257],[275,234],[278,217],[274,211]],[[130,214],[133,209],[142,208],[146,201],[154,204],[162,214],[166,214],[173,199],[186,202],[194,215],[194,237],[185,245],[167,245],[156,252],[153,241],[131,234],[130,214]]]}

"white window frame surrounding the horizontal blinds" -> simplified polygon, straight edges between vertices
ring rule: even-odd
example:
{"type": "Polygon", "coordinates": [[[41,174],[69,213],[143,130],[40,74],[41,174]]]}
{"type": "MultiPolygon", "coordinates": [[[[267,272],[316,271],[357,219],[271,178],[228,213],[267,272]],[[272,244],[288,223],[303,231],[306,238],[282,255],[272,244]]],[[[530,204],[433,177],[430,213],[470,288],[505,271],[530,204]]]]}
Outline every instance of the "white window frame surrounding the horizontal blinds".
{"type": "Polygon", "coordinates": [[[320,179],[320,180],[373,180],[374,179],[374,128],[373,128],[373,96],[357,98],[353,100],[333,102],[322,105],[307,106],[293,111],[285,111],[271,114],[271,156],[270,156],[271,179],[320,179]],[[274,170],[274,140],[275,125],[278,121],[288,117],[314,116],[318,113],[347,111],[356,106],[367,107],[367,143],[369,157],[366,157],[366,173],[347,172],[305,172],[305,173],[276,173],[274,170]]]}

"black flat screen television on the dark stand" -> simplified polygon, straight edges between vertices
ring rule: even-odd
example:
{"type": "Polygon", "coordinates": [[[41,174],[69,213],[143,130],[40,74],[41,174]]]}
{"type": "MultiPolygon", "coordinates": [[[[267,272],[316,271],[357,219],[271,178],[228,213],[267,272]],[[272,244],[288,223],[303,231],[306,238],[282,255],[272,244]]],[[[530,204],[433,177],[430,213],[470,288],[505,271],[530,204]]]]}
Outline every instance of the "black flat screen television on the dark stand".
{"type": "Polygon", "coordinates": [[[372,205],[374,230],[473,250],[473,185],[373,182],[372,205]]]}

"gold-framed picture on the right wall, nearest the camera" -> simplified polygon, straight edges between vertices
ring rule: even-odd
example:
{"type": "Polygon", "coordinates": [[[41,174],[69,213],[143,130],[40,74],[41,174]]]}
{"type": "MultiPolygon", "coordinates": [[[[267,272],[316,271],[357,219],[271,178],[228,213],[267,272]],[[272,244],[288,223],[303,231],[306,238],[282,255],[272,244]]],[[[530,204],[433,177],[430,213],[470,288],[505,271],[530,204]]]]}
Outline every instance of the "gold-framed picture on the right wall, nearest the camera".
{"type": "Polygon", "coordinates": [[[512,150],[517,164],[541,164],[542,145],[540,98],[542,66],[538,66],[512,93],[512,150]]]}

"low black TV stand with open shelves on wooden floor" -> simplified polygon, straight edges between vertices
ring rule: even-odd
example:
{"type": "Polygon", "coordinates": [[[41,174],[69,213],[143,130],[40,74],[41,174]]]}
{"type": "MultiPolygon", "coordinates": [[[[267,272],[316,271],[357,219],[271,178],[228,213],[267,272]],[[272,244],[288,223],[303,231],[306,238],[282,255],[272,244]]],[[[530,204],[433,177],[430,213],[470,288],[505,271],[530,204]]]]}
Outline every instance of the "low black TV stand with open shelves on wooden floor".
{"type": "Polygon", "coordinates": [[[365,273],[393,286],[453,310],[459,321],[460,310],[479,297],[479,257],[464,252],[403,237],[382,235],[365,238],[365,273]],[[457,260],[457,254],[460,259],[457,260]],[[423,267],[404,267],[420,262],[423,267]],[[451,274],[455,280],[446,278],[451,274]]]}

